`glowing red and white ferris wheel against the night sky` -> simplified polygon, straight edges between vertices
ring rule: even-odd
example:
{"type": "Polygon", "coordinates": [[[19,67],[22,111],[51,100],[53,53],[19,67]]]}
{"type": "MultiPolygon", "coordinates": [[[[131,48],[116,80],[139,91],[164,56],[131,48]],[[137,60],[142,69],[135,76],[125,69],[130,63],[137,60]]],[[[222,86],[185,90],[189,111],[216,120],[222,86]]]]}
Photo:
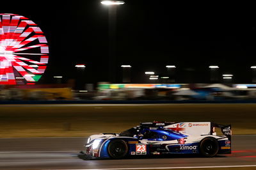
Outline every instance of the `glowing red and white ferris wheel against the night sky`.
{"type": "Polygon", "coordinates": [[[20,15],[0,14],[0,84],[35,84],[48,59],[49,47],[40,27],[20,15]]]}

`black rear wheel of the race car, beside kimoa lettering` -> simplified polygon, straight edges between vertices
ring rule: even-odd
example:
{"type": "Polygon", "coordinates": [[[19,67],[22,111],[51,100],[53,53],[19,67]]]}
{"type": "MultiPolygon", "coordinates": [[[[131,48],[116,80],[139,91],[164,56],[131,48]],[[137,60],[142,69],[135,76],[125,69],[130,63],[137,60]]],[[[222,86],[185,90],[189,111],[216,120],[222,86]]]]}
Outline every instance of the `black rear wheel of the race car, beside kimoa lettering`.
{"type": "Polygon", "coordinates": [[[200,141],[200,154],[204,157],[214,157],[219,151],[219,143],[213,137],[205,137],[200,141]]]}

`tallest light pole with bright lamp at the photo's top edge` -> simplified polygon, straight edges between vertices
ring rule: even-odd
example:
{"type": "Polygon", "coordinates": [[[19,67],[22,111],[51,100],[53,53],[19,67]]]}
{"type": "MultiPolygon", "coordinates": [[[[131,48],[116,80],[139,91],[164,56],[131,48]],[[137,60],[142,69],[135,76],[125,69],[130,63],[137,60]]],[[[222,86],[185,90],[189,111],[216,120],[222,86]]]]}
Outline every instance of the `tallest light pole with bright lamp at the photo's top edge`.
{"type": "Polygon", "coordinates": [[[101,1],[101,4],[108,6],[109,22],[109,82],[116,82],[116,8],[124,4],[124,1],[101,1]]]}

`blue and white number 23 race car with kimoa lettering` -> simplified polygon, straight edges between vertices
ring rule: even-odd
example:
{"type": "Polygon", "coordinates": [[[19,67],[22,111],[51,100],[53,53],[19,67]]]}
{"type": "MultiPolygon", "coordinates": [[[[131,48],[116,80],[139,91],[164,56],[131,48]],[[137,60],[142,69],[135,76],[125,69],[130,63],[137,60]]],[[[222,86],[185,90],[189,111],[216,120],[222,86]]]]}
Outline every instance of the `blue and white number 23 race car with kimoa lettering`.
{"type": "Polygon", "coordinates": [[[143,122],[120,134],[91,135],[84,151],[88,158],[120,159],[135,155],[231,153],[231,125],[212,122],[143,122]],[[217,135],[215,128],[220,128],[217,135]]]}

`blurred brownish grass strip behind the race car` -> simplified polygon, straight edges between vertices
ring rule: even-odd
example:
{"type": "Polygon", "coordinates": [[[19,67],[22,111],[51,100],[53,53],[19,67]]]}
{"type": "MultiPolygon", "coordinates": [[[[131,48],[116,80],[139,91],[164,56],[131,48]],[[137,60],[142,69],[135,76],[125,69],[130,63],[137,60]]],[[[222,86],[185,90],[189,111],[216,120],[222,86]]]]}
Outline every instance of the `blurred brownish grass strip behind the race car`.
{"type": "Polygon", "coordinates": [[[256,104],[1,105],[0,137],[75,137],[121,132],[142,121],[213,121],[256,134],[256,104]]]}

